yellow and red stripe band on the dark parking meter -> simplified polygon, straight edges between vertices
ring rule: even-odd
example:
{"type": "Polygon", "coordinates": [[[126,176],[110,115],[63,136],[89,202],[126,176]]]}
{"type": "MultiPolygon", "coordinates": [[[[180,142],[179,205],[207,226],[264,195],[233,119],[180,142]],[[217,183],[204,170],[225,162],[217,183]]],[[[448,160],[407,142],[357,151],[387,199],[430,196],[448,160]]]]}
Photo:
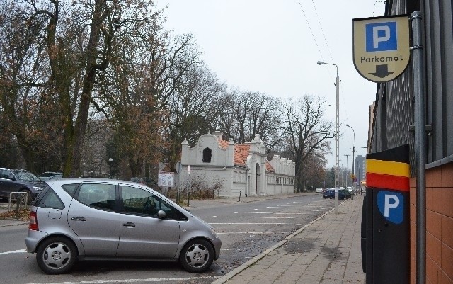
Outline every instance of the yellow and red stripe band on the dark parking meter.
{"type": "Polygon", "coordinates": [[[367,159],[367,187],[409,191],[409,164],[367,159]]]}

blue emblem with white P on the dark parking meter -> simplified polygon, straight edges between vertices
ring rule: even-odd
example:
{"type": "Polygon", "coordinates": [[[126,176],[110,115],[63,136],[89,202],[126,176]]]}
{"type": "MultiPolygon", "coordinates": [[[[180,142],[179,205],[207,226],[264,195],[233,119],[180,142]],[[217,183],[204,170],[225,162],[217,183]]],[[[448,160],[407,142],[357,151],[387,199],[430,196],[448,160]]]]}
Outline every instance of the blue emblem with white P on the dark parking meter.
{"type": "Polygon", "coordinates": [[[401,193],[379,191],[377,193],[377,208],[386,220],[394,224],[403,222],[404,198],[401,193]]]}

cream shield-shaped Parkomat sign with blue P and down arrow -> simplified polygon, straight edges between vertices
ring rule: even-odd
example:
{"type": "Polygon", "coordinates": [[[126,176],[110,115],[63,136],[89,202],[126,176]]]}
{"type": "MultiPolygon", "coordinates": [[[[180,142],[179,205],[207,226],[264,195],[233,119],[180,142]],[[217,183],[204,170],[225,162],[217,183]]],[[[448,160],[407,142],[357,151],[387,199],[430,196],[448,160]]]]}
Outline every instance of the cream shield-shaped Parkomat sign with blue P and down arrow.
{"type": "Polygon", "coordinates": [[[407,15],[355,18],[352,27],[354,66],[365,79],[383,83],[406,70],[411,55],[407,15]]]}

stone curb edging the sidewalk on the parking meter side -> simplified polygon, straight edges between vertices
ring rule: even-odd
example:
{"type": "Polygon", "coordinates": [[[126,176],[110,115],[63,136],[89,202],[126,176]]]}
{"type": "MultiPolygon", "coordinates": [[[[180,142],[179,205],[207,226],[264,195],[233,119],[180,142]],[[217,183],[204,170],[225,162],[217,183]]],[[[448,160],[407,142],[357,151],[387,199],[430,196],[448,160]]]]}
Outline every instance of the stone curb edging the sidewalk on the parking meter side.
{"type": "MultiPolygon", "coordinates": [[[[350,200],[350,199],[348,199],[350,200]]],[[[346,201],[348,200],[345,200],[343,201],[343,203],[345,203],[346,201]]],[[[343,204],[343,203],[340,203],[339,205],[343,204]]],[[[306,229],[307,227],[309,227],[310,225],[313,225],[314,222],[317,222],[318,220],[321,220],[323,217],[325,217],[326,215],[328,215],[329,213],[333,212],[333,210],[335,210],[335,208],[332,208],[331,210],[329,210],[328,212],[324,213],[323,215],[317,217],[315,220],[309,222],[307,225],[304,225],[304,227],[298,229],[296,232],[290,234],[288,237],[285,237],[285,239],[282,239],[282,241],[278,242],[277,244],[275,244],[274,246],[271,246],[269,249],[266,249],[265,251],[263,251],[261,254],[258,254],[258,256],[255,256],[253,257],[253,259],[250,259],[248,260],[246,263],[243,263],[241,266],[239,267],[236,267],[234,268],[232,271],[230,271],[229,273],[226,273],[224,276],[222,276],[221,278],[218,278],[217,280],[215,280],[214,282],[212,282],[212,284],[223,284],[225,283],[226,281],[230,280],[231,278],[233,278],[234,276],[236,276],[237,274],[241,273],[242,271],[246,270],[246,268],[252,266],[253,264],[255,264],[257,261],[259,261],[260,259],[263,259],[263,257],[265,257],[266,255],[268,255],[270,252],[274,251],[275,249],[278,249],[280,246],[283,246],[284,244],[286,244],[290,239],[292,239],[292,237],[294,237],[295,235],[299,234],[300,232],[302,232],[304,229],[306,229]]]]}

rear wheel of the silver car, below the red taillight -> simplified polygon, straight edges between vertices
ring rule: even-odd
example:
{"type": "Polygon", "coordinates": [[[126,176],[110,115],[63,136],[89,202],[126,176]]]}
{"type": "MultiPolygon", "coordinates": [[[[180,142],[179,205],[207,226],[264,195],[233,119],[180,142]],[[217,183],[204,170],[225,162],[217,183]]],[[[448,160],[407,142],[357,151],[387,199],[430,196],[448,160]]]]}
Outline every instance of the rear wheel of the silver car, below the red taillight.
{"type": "Polygon", "coordinates": [[[47,274],[67,273],[76,260],[76,246],[64,237],[46,239],[36,250],[38,266],[47,274]]]}

